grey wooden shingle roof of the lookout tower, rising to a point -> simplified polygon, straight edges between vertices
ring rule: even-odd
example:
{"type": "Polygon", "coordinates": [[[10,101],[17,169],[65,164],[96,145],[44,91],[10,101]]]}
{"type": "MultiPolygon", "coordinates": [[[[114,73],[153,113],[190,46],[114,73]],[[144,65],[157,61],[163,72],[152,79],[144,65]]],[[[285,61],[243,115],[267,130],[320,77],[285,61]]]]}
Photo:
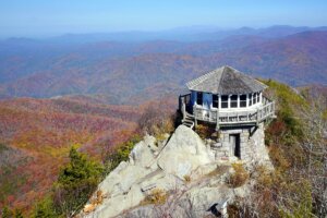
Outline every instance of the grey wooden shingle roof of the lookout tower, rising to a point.
{"type": "Polygon", "coordinates": [[[225,65],[186,83],[190,90],[218,95],[249,94],[265,89],[262,82],[225,65]]]}

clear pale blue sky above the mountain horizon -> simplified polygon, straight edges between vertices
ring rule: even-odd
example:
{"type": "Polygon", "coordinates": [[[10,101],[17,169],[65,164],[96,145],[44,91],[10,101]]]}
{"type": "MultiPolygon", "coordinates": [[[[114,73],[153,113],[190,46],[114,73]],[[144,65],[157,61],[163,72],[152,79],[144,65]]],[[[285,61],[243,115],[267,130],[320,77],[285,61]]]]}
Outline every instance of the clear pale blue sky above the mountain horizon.
{"type": "Polygon", "coordinates": [[[0,0],[0,36],[325,26],[327,0],[0,0]]]}

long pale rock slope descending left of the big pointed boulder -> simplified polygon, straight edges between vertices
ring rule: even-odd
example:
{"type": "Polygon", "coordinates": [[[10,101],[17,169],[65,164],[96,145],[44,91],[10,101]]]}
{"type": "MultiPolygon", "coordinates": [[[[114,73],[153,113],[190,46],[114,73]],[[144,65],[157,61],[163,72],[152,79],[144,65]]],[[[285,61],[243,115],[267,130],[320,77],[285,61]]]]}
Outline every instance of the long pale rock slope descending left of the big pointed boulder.
{"type": "Polygon", "coordinates": [[[130,160],[120,162],[98,185],[98,190],[106,196],[102,204],[98,205],[95,211],[82,216],[114,217],[125,209],[137,206],[144,199],[145,195],[140,183],[158,169],[154,164],[147,167],[155,161],[153,155],[155,142],[155,137],[147,135],[134,146],[130,160]]]}

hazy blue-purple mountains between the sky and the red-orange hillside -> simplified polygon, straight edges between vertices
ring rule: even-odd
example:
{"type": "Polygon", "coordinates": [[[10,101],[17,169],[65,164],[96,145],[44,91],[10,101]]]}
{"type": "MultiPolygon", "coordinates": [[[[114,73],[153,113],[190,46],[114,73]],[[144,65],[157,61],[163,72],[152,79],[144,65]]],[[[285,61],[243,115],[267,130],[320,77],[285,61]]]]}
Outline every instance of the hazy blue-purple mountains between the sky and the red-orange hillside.
{"type": "Polygon", "coordinates": [[[137,104],[177,95],[186,81],[225,64],[292,86],[327,84],[327,27],[201,29],[175,29],[184,40],[121,33],[126,40],[95,34],[0,41],[0,98],[84,94],[137,104]]]}

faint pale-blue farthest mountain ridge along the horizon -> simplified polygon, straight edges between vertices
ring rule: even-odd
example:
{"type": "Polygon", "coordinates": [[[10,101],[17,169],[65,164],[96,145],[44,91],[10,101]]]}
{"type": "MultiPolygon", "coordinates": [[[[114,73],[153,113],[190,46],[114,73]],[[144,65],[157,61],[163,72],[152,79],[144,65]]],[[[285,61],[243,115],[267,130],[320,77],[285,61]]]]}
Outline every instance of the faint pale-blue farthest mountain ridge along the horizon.
{"type": "Polygon", "coordinates": [[[235,35],[252,35],[267,38],[279,38],[307,31],[327,31],[327,27],[275,25],[265,28],[220,28],[217,26],[199,25],[178,27],[160,32],[130,31],[116,33],[65,34],[58,37],[47,38],[44,41],[52,41],[59,44],[81,44],[97,41],[144,43],[149,40],[203,41],[218,40],[235,35]]]}

